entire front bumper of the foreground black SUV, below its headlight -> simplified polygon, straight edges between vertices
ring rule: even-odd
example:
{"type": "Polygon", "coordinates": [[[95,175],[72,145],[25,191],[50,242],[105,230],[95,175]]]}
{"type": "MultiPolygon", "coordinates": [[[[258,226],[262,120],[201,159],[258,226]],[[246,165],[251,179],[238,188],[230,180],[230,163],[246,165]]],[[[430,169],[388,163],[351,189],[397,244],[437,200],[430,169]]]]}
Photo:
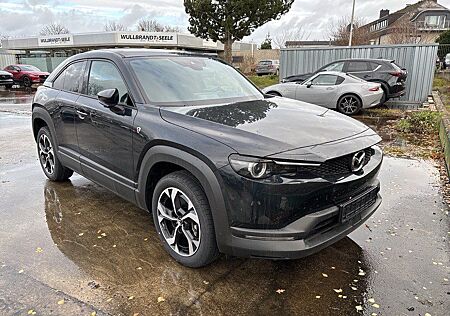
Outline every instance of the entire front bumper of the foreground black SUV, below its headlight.
{"type": "Polygon", "coordinates": [[[221,251],[240,257],[294,259],[340,240],[381,204],[377,176],[382,160],[377,149],[362,174],[333,181],[276,179],[280,182],[259,183],[222,168],[229,234],[218,236],[221,251]],[[343,221],[342,205],[358,201],[366,192],[373,193],[370,203],[343,221]]]}

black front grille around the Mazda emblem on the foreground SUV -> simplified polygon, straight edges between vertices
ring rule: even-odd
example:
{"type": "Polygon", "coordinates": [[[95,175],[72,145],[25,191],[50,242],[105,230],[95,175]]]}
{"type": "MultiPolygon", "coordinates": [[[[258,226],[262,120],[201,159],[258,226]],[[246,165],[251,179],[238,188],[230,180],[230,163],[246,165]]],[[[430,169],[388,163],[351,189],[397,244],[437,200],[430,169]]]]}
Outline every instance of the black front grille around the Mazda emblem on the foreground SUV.
{"type": "MultiPolygon", "coordinates": [[[[367,165],[373,155],[373,149],[367,148],[364,150],[366,157],[364,166],[367,165]]],[[[339,158],[325,161],[320,166],[305,166],[299,167],[298,172],[310,173],[321,178],[340,177],[352,173],[351,162],[353,154],[342,156],[339,158]]]]}

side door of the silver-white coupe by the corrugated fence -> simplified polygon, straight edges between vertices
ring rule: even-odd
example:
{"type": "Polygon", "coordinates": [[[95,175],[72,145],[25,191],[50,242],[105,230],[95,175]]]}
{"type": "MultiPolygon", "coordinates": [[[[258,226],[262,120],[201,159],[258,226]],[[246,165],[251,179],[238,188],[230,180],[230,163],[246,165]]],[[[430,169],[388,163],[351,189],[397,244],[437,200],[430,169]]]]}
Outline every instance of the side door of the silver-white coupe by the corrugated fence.
{"type": "Polygon", "coordinates": [[[296,99],[304,102],[334,108],[330,102],[337,93],[339,76],[332,74],[319,74],[307,82],[298,85],[296,99]]]}

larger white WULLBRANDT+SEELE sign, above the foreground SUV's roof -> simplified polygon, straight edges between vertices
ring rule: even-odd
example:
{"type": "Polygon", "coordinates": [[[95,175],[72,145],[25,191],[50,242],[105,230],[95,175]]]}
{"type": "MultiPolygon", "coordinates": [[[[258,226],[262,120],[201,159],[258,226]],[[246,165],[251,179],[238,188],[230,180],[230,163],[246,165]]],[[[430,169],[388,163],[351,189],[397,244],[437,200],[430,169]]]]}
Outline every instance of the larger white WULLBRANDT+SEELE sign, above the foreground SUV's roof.
{"type": "Polygon", "coordinates": [[[120,44],[164,44],[177,45],[177,33],[166,32],[119,32],[117,43],[120,44]]]}

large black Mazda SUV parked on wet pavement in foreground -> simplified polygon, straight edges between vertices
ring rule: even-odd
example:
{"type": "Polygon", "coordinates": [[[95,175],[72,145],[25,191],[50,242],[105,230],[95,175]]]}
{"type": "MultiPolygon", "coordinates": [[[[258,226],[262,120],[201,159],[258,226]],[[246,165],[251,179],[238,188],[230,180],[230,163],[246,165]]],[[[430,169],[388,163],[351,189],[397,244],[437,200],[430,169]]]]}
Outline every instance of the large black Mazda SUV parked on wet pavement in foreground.
{"type": "Polygon", "coordinates": [[[298,258],[381,203],[380,137],[358,121],[264,95],[232,66],[164,50],[67,59],[33,100],[39,160],[148,210],[189,267],[220,252],[298,258]]]}

